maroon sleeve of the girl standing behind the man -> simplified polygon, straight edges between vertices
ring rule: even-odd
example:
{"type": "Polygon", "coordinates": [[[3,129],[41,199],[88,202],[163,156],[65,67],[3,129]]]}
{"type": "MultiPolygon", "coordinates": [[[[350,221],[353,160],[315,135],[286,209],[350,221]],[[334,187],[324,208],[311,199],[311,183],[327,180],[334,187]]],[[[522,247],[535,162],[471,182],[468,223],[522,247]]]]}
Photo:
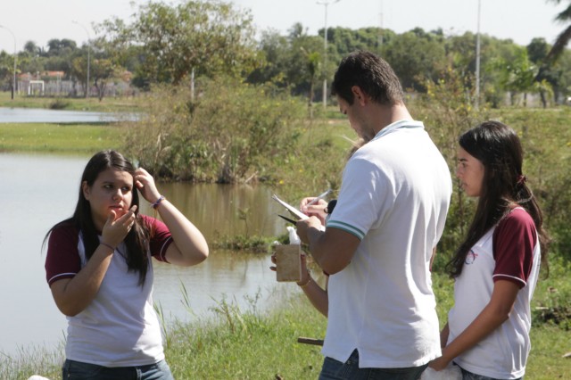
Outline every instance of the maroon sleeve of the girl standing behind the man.
{"type": "Polygon", "coordinates": [[[493,281],[508,280],[524,287],[532,270],[536,243],[534,219],[525,210],[514,209],[501,219],[493,232],[493,281]]]}

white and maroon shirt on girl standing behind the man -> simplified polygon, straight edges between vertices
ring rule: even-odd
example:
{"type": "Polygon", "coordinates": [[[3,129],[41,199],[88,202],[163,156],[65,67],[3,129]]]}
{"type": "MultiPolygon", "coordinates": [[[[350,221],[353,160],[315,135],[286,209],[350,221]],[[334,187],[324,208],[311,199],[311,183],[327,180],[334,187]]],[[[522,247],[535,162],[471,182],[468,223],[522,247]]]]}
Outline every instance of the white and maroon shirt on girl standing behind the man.
{"type": "Polygon", "coordinates": [[[516,379],[524,376],[531,348],[530,302],[540,268],[540,244],[534,220],[516,208],[472,247],[454,285],[454,307],[448,324],[453,341],[490,302],[495,281],[511,281],[521,289],[509,319],[475,347],[454,359],[481,376],[516,379]]]}

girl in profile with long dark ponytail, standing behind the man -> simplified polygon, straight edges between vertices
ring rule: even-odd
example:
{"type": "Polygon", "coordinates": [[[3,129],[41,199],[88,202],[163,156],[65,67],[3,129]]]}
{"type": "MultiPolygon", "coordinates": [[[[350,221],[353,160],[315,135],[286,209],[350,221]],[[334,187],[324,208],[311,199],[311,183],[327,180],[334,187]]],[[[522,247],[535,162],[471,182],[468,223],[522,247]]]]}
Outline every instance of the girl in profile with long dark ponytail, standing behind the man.
{"type": "Polygon", "coordinates": [[[449,263],[454,307],[441,333],[443,356],[463,379],[519,379],[530,350],[530,302],[548,237],[522,174],[516,133],[487,121],[459,137],[456,175],[479,197],[468,235],[449,263]]]}

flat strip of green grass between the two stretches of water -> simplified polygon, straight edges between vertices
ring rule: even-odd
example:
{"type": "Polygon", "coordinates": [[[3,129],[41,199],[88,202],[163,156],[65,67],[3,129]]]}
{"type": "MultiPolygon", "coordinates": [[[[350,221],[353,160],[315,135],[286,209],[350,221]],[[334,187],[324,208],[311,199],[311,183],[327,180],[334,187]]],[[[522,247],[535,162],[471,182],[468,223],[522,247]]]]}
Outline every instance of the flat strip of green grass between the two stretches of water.
{"type": "Polygon", "coordinates": [[[94,153],[120,148],[120,126],[0,123],[0,152],[94,153]]]}

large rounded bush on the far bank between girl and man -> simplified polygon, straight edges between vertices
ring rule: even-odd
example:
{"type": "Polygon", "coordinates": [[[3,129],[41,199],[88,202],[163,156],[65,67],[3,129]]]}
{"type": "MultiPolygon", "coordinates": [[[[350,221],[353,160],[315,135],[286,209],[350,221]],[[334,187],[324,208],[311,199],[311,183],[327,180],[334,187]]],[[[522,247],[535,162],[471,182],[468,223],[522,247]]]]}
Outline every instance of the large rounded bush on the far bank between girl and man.
{"type": "Polygon", "coordinates": [[[198,94],[154,89],[145,118],[130,124],[128,154],[161,178],[234,183],[271,178],[294,152],[302,102],[229,79],[206,80],[198,94]]]}

